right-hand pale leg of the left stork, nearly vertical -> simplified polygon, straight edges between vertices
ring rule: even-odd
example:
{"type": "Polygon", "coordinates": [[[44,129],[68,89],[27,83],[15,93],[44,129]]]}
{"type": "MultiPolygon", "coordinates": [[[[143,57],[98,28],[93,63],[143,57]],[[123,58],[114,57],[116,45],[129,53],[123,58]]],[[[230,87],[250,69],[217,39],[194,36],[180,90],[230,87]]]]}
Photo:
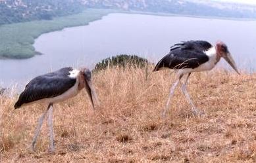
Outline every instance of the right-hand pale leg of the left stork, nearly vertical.
{"type": "Polygon", "coordinates": [[[50,104],[48,110],[48,120],[47,120],[48,128],[49,128],[49,153],[53,153],[55,151],[54,147],[54,137],[53,137],[53,104],[50,104]]]}

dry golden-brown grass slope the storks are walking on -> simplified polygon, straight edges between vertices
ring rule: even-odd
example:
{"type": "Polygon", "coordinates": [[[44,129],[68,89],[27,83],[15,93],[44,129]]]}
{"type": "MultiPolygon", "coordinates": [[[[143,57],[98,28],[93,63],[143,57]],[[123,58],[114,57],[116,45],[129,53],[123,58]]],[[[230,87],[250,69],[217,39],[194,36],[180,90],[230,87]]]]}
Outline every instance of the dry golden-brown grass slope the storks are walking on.
{"type": "Polygon", "coordinates": [[[188,90],[205,116],[193,117],[177,90],[165,119],[174,75],[145,76],[145,69],[119,68],[94,75],[97,111],[85,92],[54,105],[55,154],[47,153],[45,124],[37,152],[27,149],[46,106],[14,111],[16,98],[0,97],[0,162],[256,161],[256,74],[194,73],[188,90]]]}

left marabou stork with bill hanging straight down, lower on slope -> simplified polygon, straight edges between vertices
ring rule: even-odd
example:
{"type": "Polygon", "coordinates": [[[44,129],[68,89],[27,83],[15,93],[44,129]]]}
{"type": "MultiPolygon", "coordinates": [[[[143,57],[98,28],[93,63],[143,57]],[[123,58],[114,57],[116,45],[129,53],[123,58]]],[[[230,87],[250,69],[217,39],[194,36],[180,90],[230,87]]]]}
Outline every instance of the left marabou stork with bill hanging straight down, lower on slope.
{"type": "Polygon", "coordinates": [[[40,75],[30,81],[25,90],[20,94],[14,109],[32,103],[44,103],[48,107],[38,120],[36,133],[32,141],[32,150],[35,151],[36,139],[41,130],[45,115],[48,113],[47,124],[49,128],[49,153],[55,151],[53,137],[53,104],[76,96],[80,90],[86,88],[93,109],[97,103],[97,95],[91,83],[91,71],[89,69],[73,69],[64,67],[53,73],[40,75]]]}

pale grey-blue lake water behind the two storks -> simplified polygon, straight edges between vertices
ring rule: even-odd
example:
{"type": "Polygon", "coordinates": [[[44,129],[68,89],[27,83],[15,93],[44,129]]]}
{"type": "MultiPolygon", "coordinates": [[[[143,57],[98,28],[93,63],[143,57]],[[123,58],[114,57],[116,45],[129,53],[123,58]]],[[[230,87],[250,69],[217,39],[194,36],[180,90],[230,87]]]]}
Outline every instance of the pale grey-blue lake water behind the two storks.
{"type": "Polygon", "coordinates": [[[224,41],[240,69],[256,70],[256,21],[109,14],[88,26],[41,35],[34,47],[43,55],[0,60],[0,85],[23,87],[37,75],[64,66],[93,68],[116,54],[136,54],[157,62],[174,43],[197,39],[224,41]]]}

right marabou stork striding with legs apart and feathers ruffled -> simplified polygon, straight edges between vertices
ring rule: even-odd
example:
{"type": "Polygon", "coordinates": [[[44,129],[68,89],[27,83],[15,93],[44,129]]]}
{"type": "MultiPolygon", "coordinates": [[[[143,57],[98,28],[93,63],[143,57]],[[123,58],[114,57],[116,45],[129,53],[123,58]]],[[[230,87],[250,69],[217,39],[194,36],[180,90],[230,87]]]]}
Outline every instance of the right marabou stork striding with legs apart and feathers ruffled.
{"type": "Polygon", "coordinates": [[[179,82],[183,94],[186,96],[190,105],[192,105],[193,114],[199,115],[199,111],[195,108],[195,105],[193,105],[186,89],[188,78],[192,72],[209,71],[213,69],[213,67],[220,61],[220,58],[224,58],[226,62],[240,74],[236,67],[236,63],[228,51],[228,47],[222,41],[218,41],[215,46],[207,41],[184,41],[170,47],[170,52],[157,63],[153,70],[159,71],[166,67],[174,69],[178,76],[177,81],[174,82],[173,86],[170,88],[166,107],[163,110],[163,117],[165,117],[170,98],[174,94],[174,90],[179,82]],[[180,80],[186,74],[188,74],[188,76],[186,77],[184,84],[182,84],[180,80]]]}

